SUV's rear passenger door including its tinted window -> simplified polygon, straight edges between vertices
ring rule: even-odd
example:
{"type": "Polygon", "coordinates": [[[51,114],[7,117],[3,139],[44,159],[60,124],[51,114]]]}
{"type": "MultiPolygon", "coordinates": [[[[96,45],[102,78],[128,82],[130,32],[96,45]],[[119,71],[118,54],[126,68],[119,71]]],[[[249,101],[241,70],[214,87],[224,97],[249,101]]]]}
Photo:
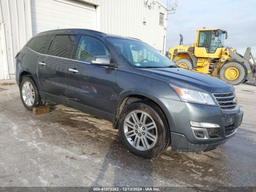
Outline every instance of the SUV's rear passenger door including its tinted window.
{"type": "Polygon", "coordinates": [[[66,68],[73,50],[75,35],[56,35],[47,55],[38,59],[38,79],[42,92],[58,102],[66,99],[66,68]]]}

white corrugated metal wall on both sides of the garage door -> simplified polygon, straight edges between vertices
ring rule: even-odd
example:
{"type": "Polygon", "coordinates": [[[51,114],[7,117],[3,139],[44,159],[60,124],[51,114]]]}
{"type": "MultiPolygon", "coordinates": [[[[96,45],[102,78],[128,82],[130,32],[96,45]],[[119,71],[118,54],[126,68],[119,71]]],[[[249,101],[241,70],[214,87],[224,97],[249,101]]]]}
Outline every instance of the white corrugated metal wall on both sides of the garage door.
{"type": "MultiPolygon", "coordinates": [[[[75,2],[72,0],[73,4],[75,2]]],[[[80,0],[80,2],[96,5],[96,30],[138,38],[158,50],[166,49],[167,12],[166,6],[158,0],[148,0],[147,4],[144,0],[80,0]],[[165,18],[163,26],[159,25],[160,13],[163,13],[165,18]]],[[[0,79],[14,78],[14,57],[30,37],[32,37],[30,0],[0,0],[0,79]]]]}

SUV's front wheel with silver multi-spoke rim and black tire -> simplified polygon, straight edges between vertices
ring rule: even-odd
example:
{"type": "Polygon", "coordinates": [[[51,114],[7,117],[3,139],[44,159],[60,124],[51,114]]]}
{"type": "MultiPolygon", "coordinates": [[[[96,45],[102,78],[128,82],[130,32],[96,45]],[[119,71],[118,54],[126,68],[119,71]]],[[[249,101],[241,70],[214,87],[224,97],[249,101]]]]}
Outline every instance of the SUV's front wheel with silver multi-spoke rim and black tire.
{"type": "Polygon", "coordinates": [[[170,131],[162,110],[153,102],[134,102],[121,112],[118,130],[130,152],[153,158],[170,144],[170,131]]]}

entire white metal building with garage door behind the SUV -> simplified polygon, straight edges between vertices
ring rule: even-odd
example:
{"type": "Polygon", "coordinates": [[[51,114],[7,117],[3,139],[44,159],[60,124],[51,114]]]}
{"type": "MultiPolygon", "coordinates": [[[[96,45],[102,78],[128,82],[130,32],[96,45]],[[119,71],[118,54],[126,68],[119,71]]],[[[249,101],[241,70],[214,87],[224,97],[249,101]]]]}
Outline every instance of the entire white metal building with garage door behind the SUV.
{"type": "Polygon", "coordinates": [[[87,28],[166,50],[167,8],[159,0],[0,0],[0,79],[15,78],[16,53],[34,35],[87,28]]]}

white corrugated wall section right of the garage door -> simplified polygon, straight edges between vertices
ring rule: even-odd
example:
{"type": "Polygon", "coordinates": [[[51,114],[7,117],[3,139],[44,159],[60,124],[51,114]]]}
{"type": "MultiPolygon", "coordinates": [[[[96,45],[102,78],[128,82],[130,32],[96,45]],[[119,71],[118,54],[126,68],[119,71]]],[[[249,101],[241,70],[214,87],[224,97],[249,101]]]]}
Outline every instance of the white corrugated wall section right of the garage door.
{"type": "Polygon", "coordinates": [[[162,3],[154,0],[147,4],[144,0],[84,1],[101,7],[100,31],[138,38],[158,50],[165,50],[167,12],[162,3]],[[164,14],[164,26],[159,25],[160,12],[164,14]]]}

